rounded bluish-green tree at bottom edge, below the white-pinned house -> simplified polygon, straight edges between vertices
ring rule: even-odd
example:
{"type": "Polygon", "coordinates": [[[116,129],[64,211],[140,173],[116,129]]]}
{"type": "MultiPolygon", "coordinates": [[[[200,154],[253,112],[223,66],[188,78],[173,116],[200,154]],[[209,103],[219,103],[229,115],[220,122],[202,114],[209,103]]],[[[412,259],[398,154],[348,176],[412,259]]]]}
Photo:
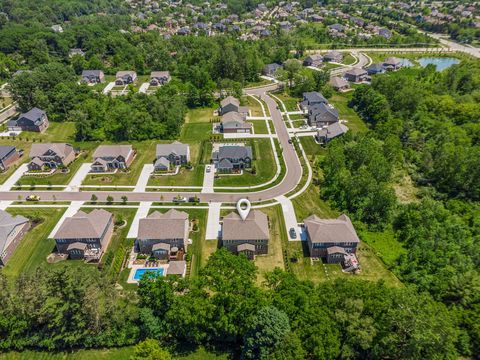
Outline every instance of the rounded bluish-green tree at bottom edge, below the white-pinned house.
{"type": "Polygon", "coordinates": [[[242,359],[267,359],[290,332],[287,315],[276,307],[260,309],[245,334],[242,359]]]}

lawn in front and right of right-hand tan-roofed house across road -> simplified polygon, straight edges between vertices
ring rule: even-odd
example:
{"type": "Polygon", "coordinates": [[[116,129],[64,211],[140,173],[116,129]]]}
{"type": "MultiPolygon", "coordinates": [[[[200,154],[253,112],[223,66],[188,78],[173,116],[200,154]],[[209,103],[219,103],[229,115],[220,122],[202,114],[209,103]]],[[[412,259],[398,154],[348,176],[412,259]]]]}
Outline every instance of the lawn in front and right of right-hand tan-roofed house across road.
{"type": "Polygon", "coordinates": [[[132,143],[137,155],[128,171],[117,171],[115,174],[87,175],[83,185],[135,185],[142,172],[143,165],[155,160],[155,146],[157,141],[132,143]]]}

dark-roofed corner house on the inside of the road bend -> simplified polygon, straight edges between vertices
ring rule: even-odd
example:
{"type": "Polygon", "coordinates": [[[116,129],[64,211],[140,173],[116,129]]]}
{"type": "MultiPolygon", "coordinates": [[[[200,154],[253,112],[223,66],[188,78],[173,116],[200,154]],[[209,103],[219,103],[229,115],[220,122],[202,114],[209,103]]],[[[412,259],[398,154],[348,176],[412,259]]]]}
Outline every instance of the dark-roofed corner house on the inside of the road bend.
{"type": "Polygon", "coordinates": [[[219,172],[232,172],[248,169],[252,166],[251,146],[220,146],[213,153],[213,161],[219,172]]]}

